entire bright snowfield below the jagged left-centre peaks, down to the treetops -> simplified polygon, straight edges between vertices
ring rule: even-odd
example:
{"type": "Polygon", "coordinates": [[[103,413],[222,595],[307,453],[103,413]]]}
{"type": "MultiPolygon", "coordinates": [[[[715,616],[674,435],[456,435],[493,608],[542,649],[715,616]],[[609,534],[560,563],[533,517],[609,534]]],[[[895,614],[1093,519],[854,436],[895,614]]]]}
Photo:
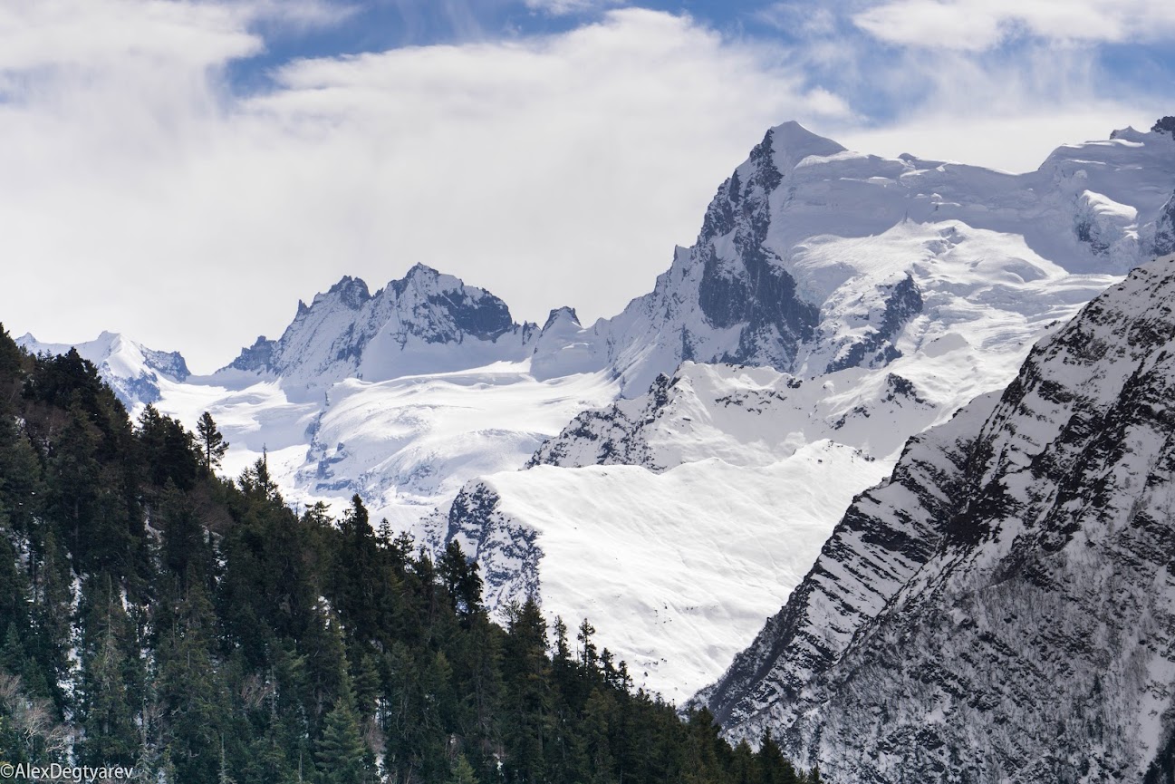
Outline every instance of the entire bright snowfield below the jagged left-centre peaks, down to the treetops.
{"type": "Polygon", "coordinates": [[[372,520],[417,530],[472,477],[521,468],[578,411],[616,398],[612,374],[539,382],[530,363],[344,378],[309,400],[301,382],[231,369],[163,381],[156,406],[189,425],[209,411],[231,444],[229,476],[264,455],[290,503],[341,510],[358,492],[372,520]]]}

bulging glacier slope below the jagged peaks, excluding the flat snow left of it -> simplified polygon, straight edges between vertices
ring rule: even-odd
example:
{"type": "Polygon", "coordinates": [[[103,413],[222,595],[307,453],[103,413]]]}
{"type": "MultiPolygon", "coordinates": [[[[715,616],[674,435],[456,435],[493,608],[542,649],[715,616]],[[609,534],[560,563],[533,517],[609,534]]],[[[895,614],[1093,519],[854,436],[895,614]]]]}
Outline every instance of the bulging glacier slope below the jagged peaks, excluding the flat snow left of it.
{"type": "Polygon", "coordinates": [[[410,528],[474,476],[516,470],[584,407],[616,396],[607,374],[539,382],[529,362],[330,388],[294,484],[361,492],[375,518],[410,528]]]}

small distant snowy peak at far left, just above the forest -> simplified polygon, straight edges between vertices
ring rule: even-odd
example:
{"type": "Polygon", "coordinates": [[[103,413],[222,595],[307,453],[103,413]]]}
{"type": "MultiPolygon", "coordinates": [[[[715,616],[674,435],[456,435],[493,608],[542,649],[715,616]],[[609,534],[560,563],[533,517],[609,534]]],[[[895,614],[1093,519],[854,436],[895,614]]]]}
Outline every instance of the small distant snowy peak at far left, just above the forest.
{"type": "Polygon", "coordinates": [[[114,390],[127,410],[160,400],[160,384],[183,383],[192,375],[179,351],[156,351],[123,335],[103,331],[86,343],[42,343],[31,334],[16,339],[29,354],[66,354],[78,349],[114,390]]]}

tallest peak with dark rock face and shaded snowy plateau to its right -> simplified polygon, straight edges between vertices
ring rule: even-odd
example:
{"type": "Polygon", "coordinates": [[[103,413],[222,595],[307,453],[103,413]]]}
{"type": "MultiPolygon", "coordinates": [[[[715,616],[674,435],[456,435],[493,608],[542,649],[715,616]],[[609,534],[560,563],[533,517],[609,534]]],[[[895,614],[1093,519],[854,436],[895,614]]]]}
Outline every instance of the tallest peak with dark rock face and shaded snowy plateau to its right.
{"type": "Polygon", "coordinates": [[[697,242],[677,249],[654,290],[585,329],[582,342],[606,355],[629,395],[685,360],[804,375],[884,363],[894,350],[887,333],[920,310],[906,277],[918,287],[913,267],[945,249],[899,256],[870,240],[899,239],[904,225],[927,241],[942,232],[938,241],[949,246],[964,239],[952,228],[1014,239],[1020,247],[1005,248],[991,270],[991,299],[1038,279],[1040,259],[1070,273],[1124,274],[1167,241],[1173,159],[1175,139],[1127,128],[1007,174],[864,155],[787,122],[719,187],[697,242]],[[870,286],[841,288],[862,274],[870,286]]]}

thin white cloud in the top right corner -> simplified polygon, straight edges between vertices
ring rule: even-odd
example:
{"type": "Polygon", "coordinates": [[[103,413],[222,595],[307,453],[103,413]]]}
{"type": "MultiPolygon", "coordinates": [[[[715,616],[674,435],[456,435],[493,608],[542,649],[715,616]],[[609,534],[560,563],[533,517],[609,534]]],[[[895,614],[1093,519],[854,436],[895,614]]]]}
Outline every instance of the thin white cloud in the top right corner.
{"type": "Polygon", "coordinates": [[[1168,0],[893,0],[853,21],[902,46],[981,52],[1020,34],[1076,42],[1162,40],[1175,34],[1168,0]]]}

